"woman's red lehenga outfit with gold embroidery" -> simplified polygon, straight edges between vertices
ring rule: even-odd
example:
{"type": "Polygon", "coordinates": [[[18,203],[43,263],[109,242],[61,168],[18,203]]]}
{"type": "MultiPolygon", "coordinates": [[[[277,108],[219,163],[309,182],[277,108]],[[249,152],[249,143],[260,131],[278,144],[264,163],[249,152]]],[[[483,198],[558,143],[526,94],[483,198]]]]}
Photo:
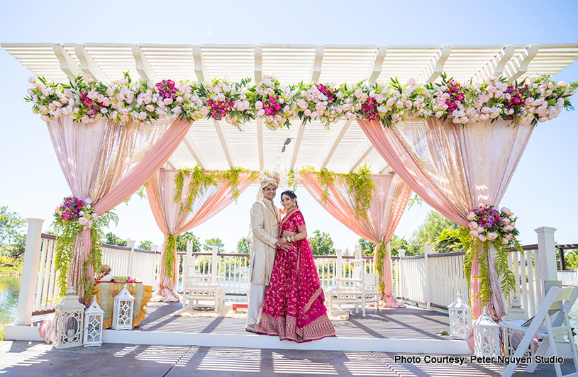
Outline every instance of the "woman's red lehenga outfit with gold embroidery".
{"type": "MultiPolygon", "coordinates": [[[[290,210],[279,228],[279,235],[284,230],[304,231],[301,211],[290,210]]],[[[289,250],[277,249],[257,332],[298,343],[335,337],[309,241],[305,238],[290,245],[289,250]]]]}

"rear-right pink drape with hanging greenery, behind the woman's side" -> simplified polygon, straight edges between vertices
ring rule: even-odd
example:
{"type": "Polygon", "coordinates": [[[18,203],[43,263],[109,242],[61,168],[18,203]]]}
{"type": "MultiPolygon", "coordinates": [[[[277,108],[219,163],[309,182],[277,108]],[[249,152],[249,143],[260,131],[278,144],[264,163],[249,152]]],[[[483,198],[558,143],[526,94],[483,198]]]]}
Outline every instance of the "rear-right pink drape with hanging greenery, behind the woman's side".
{"type": "Polygon", "coordinates": [[[374,255],[381,244],[388,247],[383,261],[383,281],[385,284],[384,305],[389,308],[402,306],[394,296],[393,276],[391,275],[391,255],[389,241],[394,236],[401,215],[404,213],[411,189],[397,174],[378,174],[372,176],[375,190],[367,216],[355,212],[355,195],[348,193],[349,186],[343,177],[335,177],[334,183],[328,186],[329,196],[323,201],[323,188],[314,173],[299,175],[301,183],[311,196],[318,201],[334,218],[365,240],[376,244],[374,255]]]}

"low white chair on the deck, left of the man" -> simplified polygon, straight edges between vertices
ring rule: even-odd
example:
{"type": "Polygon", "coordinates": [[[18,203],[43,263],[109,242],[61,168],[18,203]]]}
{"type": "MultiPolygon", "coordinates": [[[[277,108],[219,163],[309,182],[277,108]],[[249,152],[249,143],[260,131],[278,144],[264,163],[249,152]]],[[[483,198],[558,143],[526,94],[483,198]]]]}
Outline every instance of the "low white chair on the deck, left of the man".
{"type": "Polygon", "coordinates": [[[215,311],[225,306],[225,289],[216,283],[216,271],[211,274],[199,274],[194,268],[194,257],[185,255],[183,257],[183,309],[193,308],[199,300],[213,301],[215,311]]]}

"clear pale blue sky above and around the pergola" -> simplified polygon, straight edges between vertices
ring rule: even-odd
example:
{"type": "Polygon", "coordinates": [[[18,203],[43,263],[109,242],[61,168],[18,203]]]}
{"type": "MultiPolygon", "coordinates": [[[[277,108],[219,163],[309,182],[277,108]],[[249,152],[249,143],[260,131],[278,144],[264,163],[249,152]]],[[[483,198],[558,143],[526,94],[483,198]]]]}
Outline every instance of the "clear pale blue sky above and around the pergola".
{"type": "MultiPolygon", "coordinates": [[[[576,1],[26,1],[4,2],[3,43],[203,43],[342,45],[503,45],[578,43],[576,1]]],[[[70,194],[45,124],[23,101],[30,72],[0,50],[0,206],[23,218],[44,218],[44,230],[70,194]]],[[[273,72],[274,73],[274,72],[273,72]]],[[[555,80],[578,79],[577,63],[555,80]]],[[[572,101],[578,105],[578,98],[572,101]]],[[[534,229],[557,228],[559,243],[577,243],[578,115],[562,113],[535,129],[502,200],[520,218],[524,244],[534,229]]],[[[338,248],[359,237],[297,191],[309,230],[329,232],[338,248]]],[[[238,203],[194,229],[221,237],[227,249],[248,232],[255,200],[238,203]]],[[[408,238],[428,206],[404,213],[397,234],[408,238]]],[[[162,242],[146,201],[117,208],[118,236],[162,242]]]]}

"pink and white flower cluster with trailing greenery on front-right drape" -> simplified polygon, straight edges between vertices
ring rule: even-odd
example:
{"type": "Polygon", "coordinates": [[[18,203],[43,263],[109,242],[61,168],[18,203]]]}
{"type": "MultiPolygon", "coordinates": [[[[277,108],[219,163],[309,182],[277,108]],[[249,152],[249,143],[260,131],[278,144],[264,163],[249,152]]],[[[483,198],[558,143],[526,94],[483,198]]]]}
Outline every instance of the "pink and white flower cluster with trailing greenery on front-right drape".
{"type": "Polygon", "coordinates": [[[472,271],[472,262],[477,260],[480,267],[480,274],[476,276],[482,283],[482,289],[477,294],[477,298],[482,298],[483,305],[491,300],[492,289],[490,285],[489,270],[489,249],[490,244],[496,248],[494,266],[496,273],[501,279],[501,293],[508,296],[513,291],[516,284],[513,272],[508,268],[508,254],[506,249],[516,248],[522,252],[521,244],[516,239],[519,235],[516,228],[517,218],[513,217],[513,212],[504,207],[501,210],[494,209],[494,206],[480,205],[466,215],[467,227],[460,228],[460,238],[466,250],[466,260],[464,271],[469,282],[472,271]]]}

